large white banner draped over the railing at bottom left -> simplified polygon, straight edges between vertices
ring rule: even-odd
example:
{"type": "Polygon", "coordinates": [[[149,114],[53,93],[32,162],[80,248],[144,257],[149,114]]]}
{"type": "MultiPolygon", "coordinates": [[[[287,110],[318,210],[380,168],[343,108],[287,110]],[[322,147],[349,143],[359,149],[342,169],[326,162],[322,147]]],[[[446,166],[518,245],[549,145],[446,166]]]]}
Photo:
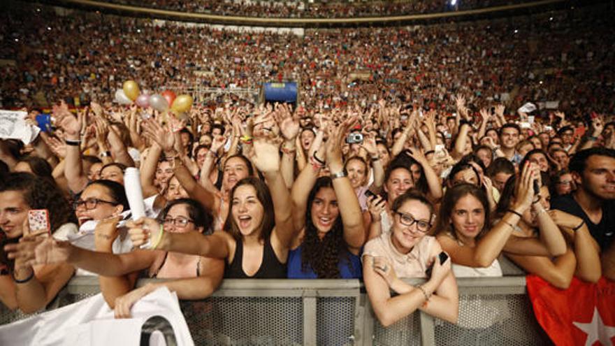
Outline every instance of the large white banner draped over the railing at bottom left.
{"type": "Polygon", "coordinates": [[[141,298],[131,314],[131,319],[115,319],[102,294],[97,294],[0,326],[0,345],[194,345],[178,297],[166,287],[141,298]]]}

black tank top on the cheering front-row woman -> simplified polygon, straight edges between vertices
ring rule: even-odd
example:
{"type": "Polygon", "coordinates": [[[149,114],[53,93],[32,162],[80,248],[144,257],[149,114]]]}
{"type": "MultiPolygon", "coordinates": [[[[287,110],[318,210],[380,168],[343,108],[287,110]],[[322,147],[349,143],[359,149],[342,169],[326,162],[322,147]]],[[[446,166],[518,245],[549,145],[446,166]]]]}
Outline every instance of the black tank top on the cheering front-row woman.
{"type": "Polygon", "coordinates": [[[243,241],[238,241],[235,247],[233,262],[224,264],[224,278],[226,279],[286,279],[286,264],[280,262],[273,252],[270,239],[265,238],[263,246],[263,262],[261,268],[253,276],[248,276],[243,271],[243,241]]]}

